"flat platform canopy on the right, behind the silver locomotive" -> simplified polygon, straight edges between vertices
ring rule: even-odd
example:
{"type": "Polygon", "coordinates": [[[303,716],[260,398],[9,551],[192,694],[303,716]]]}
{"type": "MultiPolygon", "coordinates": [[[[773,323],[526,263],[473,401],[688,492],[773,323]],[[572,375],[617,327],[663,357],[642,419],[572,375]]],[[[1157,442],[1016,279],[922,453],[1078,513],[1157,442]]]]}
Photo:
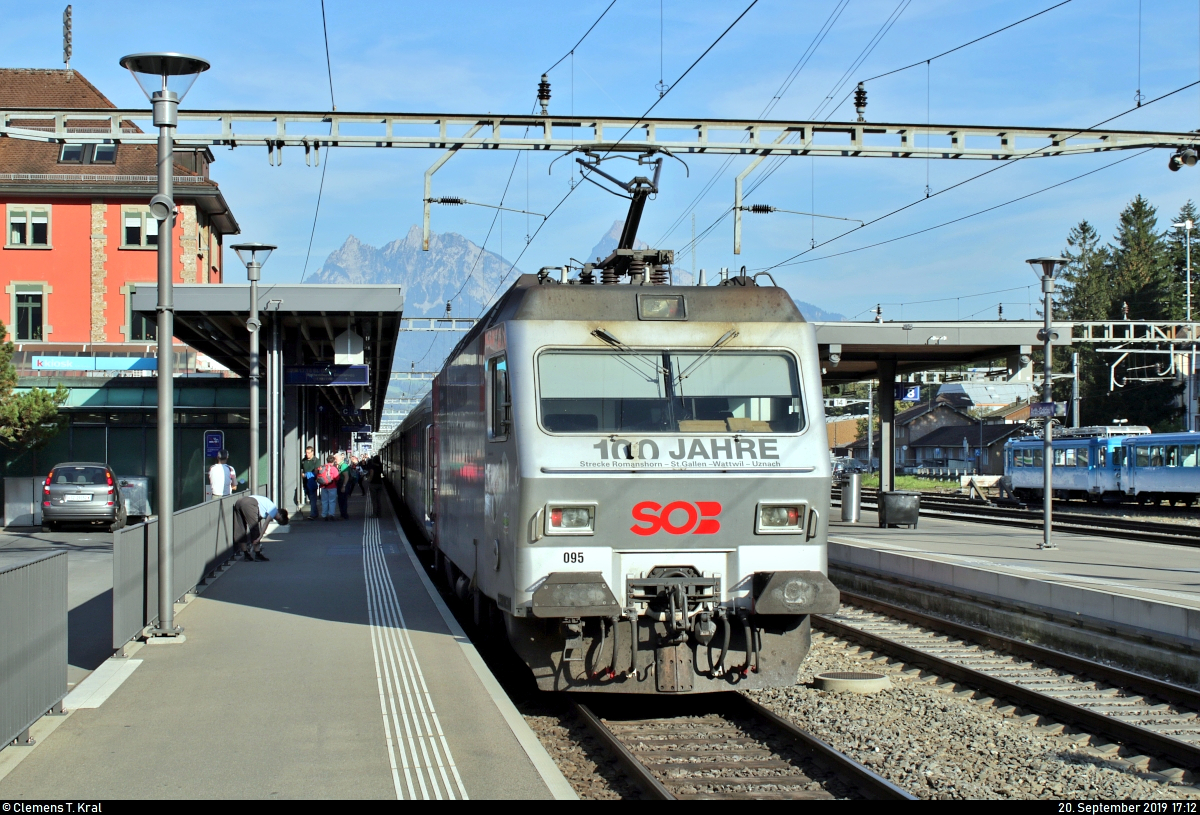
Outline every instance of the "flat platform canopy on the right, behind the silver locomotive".
{"type": "MultiPolygon", "coordinates": [[[[1028,367],[1040,348],[1040,320],[812,323],[827,385],[880,378],[880,362],[894,362],[904,376],[949,365],[1008,360],[1010,376],[1028,367]],[[1021,356],[1025,356],[1022,360],[1021,356]]],[[[1072,343],[1072,323],[1055,323],[1058,340],[1072,343]]]]}

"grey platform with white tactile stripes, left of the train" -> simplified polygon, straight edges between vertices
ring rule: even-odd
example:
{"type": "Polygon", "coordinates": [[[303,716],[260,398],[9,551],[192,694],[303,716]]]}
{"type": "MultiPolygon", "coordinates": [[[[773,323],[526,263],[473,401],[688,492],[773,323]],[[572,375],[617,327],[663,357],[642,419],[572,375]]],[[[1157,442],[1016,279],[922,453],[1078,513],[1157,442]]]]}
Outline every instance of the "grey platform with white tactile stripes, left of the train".
{"type": "Polygon", "coordinates": [[[574,798],[395,517],[365,510],[274,527],[270,562],[180,609],[186,642],[108,660],[0,753],[0,798],[574,798]]]}

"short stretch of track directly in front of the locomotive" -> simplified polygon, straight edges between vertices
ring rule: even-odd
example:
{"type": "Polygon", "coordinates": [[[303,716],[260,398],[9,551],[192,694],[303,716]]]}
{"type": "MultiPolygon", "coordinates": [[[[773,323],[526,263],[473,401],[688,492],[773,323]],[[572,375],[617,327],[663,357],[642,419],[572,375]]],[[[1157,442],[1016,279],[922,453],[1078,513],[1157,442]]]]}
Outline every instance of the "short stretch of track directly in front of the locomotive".
{"type": "Polygon", "coordinates": [[[628,718],[628,697],[600,703],[623,713],[602,718],[578,701],[575,713],[653,799],[916,801],[740,694],[655,700],[646,718],[628,718]]]}

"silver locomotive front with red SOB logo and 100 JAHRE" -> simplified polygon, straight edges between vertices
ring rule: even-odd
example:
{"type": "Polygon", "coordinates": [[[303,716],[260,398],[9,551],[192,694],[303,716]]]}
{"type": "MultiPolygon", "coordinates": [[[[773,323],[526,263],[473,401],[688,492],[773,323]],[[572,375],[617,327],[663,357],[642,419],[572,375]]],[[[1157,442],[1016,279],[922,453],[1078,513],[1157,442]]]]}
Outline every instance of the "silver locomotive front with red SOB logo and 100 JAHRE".
{"type": "Polygon", "coordinates": [[[539,687],[794,683],[809,615],[838,607],[811,326],[776,288],[530,295],[482,336],[468,475],[492,535],[473,538],[473,583],[539,687]]]}

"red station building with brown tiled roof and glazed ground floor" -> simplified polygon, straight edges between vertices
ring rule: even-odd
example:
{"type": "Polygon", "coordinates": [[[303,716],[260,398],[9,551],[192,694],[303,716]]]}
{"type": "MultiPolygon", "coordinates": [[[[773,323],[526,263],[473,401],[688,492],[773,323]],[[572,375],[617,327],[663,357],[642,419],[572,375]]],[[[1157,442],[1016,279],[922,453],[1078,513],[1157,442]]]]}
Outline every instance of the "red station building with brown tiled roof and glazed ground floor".
{"type": "MultiPolygon", "coordinates": [[[[0,68],[0,107],[115,108],[78,71],[37,68],[0,68]]],[[[156,331],[131,300],[139,283],[157,278],[158,223],[148,208],[156,149],[72,143],[71,133],[85,127],[67,118],[46,142],[0,137],[5,338],[14,344],[19,388],[70,390],[67,429],[42,449],[5,451],[4,474],[94,460],[152,479],[156,331]]],[[[212,161],[208,149],[175,152],[175,283],[226,276],[224,239],[239,226],[210,178],[212,161]]],[[[175,348],[175,499],[186,507],[203,499],[204,430],[222,430],[234,466],[242,475],[248,469],[250,394],[245,379],[204,354],[178,341],[175,348]]]]}

